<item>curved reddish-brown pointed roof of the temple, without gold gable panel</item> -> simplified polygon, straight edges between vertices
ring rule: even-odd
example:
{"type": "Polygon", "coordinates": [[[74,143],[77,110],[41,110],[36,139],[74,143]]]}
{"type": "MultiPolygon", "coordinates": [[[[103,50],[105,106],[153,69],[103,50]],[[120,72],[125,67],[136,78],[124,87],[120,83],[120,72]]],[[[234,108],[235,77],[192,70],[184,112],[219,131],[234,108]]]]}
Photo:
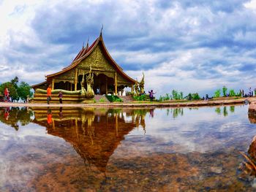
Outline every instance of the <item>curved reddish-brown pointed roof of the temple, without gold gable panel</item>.
{"type": "Polygon", "coordinates": [[[113,58],[108,53],[108,50],[105,47],[105,43],[103,41],[102,33],[100,33],[99,37],[97,39],[95,39],[95,41],[90,46],[89,46],[89,43],[87,43],[86,47],[85,48],[83,47],[80,50],[78,55],[75,57],[75,59],[72,61],[72,63],[69,66],[62,69],[61,72],[56,72],[54,74],[48,74],[46,77],[47,78],[54,77],[56,75],[67,72],[70,69],[73,69],[75,66],[78,66],[78,64],[80,64],[80,62],[83,61],[84,58],[86,58],[87,56],[90,55],[90,53],[97,47],[97,45],[99,45],[99,43],[101,43],[102,47],[103,47],[102,53],[105,55],[105,57],[108,59],[108,61],[110,61],[110,64],[112,64],[112,66],[114,66],[114,68],[118,71],[118,73],[121,74],[121,76],[124,77],[126,80],[129,80],[129,82],[135,83],[136,80],[133,80],[131,77],[129,77],[127,74],[125,74],[123,69],[121,69],[121,67],[118,66],[118,64],[116,64],[116,61],[114,61],[113,58]]]}

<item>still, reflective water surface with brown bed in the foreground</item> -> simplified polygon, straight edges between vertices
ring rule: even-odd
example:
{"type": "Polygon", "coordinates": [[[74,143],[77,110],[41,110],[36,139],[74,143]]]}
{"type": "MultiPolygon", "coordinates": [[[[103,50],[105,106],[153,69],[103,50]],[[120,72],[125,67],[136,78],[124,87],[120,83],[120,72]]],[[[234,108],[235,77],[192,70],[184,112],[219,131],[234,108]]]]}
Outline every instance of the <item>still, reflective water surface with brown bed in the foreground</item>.
{"type": "Polygon", "coordinates": [[[256,191],[247,112],[0,108],[0,191],[256,191]]]}

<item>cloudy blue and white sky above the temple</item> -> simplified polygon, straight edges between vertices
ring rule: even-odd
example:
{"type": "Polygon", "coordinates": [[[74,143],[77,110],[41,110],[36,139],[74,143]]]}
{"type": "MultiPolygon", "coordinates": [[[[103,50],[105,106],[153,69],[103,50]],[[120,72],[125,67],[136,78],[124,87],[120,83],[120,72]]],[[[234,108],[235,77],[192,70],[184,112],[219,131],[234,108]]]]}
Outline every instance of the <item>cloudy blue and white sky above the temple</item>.
{"type": "Polygon", "coordinates": [[[129,77],[157,96],[256,88],[256,0],[0,0],[0,82],[30,85],[72,62],[103,24],[129,77]]]}

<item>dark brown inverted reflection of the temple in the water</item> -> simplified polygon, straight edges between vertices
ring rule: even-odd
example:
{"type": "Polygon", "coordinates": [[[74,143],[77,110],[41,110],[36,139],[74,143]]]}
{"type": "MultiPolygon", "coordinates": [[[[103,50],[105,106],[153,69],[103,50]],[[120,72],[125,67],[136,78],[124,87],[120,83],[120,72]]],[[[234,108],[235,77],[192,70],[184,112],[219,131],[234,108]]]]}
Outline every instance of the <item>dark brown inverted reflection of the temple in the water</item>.
{"type": "Polygon", "coordinates": [[[93,108],[35,108],[33,123],[69,142],[85,164],[105,172],[110,155],[133,128],[146,131],[145,116],[151,110],[93,108]]]}

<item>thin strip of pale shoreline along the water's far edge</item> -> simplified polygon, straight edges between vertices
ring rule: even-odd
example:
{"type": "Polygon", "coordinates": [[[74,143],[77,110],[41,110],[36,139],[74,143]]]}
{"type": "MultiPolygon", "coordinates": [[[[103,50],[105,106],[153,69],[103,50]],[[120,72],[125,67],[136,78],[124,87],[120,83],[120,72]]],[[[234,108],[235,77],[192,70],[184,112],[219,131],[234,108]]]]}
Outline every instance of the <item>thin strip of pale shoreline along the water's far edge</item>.
{"type": "MultiPolygon", "coordinates": [[[[47,103],[6,103],[0,102],[0,107],[207,107],[230,104],[244,104],[245,100],[255,106],[256,98],[219,99],[209,101],[170,101],[170,102],[129,102],[129,103],[94,103],[94,104],[47,104],[47,103]]],[[[256,110],[256,107],[255,107],[256,110]]]]}

